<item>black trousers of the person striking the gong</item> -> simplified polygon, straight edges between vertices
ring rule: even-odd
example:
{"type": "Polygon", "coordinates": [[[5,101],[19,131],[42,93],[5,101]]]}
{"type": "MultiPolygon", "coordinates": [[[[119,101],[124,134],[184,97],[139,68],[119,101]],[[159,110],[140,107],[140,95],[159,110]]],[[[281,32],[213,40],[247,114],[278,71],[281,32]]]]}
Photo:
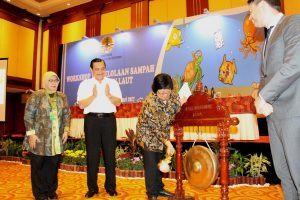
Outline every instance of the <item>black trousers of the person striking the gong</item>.
{"type": "Polygon", "coordinates": [[[143,161],[145,169],[145,184],[148,196],[157,196],[164,188],[161,172],[157,164],[163,158],[163,153],[143,150],[143,161]]]}

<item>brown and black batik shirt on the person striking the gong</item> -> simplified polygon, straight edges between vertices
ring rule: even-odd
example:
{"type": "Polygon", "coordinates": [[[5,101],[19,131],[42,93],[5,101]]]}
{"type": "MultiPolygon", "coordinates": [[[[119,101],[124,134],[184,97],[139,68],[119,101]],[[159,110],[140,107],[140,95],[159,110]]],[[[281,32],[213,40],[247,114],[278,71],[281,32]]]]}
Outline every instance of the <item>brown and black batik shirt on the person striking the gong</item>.
{"type": "Polygon", "coordinates": [[[149,94],[144,100],[136,125],[138,144],[145,150],[162,152],[163,141],[170,139],[170,126],[179,109],[179,96],[173,91],[166,102],[154,93],[149,94]]]}

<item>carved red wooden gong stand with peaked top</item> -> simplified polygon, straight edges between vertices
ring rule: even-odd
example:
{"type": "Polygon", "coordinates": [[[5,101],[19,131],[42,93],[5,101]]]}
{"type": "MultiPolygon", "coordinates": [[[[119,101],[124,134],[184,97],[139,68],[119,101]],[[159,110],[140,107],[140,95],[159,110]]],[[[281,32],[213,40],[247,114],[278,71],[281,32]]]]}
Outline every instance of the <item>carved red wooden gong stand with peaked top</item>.
{"type": "Polygon", "coordinates": [[[221,199],[228,200],[228,139],[229,127],[237,125],[239,120],[234,117],[230,118],[229,111],[226,107],[217,104],[206,92],[202,90],[202,84],[197,85],[196,91],[189,97],[188,101],[182,106],[179,113],[176,114],[173,122],[174,136],[176,138],[176,190],[175,196],[169,199],[184,200],[194,199],[185,196],[183,189],[183,169],[182,169],[182,143],[183,126],[216,126],[216,141],[220,143],[220,184],[221,199]]]}

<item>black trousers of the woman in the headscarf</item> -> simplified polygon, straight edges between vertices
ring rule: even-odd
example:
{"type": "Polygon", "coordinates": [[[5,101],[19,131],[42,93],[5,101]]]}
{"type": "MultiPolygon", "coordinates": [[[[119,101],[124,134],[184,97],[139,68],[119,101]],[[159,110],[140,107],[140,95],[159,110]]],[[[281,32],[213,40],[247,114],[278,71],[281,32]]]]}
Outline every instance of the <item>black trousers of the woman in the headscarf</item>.
{"type": "Polygon", "coordinates": [[[35,199],[47,199],[58,186],[58,166],[61,155],[40,156],[30,153],[31,185],[35,199]]]}

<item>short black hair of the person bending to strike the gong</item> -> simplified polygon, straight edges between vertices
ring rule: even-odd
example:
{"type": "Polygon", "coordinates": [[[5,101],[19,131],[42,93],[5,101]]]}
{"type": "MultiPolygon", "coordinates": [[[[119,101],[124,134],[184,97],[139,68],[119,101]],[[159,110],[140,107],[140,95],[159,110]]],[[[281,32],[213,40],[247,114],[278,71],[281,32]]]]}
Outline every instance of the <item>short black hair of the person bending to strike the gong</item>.
{"type": "Polygon", "coordinates": [[[157,74],[152,83],[152,91],[156,94],[157,90],[171,89],[173,90],[173,81],[169,74],[157,74]]]}

